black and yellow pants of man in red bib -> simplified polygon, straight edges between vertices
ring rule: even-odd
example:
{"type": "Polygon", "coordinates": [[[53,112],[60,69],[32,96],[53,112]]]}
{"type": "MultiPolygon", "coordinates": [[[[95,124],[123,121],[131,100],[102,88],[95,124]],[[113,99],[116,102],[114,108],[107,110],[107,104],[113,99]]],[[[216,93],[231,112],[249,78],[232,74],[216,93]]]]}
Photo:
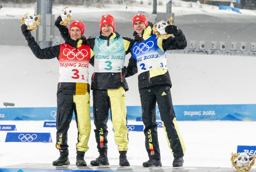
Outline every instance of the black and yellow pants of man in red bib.
{"type": "Polygon", "coordinates": [[[57,94],[57,141],[56,148],[60,155],[68,155],[67,131],[75,112],[76,127],[78,129],[76,154],[84,155],[89,149],[88,141],[91,132],[90,95],[71,95],[58,92],[57,94]]]}

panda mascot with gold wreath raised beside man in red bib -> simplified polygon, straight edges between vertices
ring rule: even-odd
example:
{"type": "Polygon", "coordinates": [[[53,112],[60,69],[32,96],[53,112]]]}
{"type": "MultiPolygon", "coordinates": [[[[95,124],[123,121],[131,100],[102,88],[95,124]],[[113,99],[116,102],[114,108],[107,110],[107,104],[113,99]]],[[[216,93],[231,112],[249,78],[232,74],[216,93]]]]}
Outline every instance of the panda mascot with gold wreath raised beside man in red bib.
{"type": "Polygon", "coordinates": [[[39,14],[29,14],[26,12],[24,17],[21,19],[20,27],[22,24],[27,25],[28,31],[34,31],[37,29],[37,26],[40,24],[41,15],[39,14]]]}

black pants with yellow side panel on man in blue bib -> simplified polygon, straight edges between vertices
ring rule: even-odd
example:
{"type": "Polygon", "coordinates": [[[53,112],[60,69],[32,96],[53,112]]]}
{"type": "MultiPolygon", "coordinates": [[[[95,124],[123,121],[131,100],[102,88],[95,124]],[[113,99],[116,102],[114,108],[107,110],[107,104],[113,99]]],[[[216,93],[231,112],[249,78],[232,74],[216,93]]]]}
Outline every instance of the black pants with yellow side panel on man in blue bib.
{"type": "Polygon", "coordinates": [[[149,159],[161,159],[157,138],[156,102],[173,156],[183,157],[186,150],[176,122],[169,85],[155,85],[139,90],[142,120],[145,125],[145,146],[149,159]]]}

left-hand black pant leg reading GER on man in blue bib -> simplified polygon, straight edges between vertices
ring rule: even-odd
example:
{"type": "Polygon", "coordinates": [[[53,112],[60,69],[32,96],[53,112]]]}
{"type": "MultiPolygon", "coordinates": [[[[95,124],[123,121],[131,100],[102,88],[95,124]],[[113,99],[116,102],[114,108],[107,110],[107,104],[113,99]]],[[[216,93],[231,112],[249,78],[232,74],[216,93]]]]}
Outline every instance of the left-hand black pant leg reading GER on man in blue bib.
{"type": "Polygon", "coordinates": [[[139,90],[142,120],[145,125],[145,146],[149,159],[161,159],[157,137],[156,97],[149,88],[139,90]]]}

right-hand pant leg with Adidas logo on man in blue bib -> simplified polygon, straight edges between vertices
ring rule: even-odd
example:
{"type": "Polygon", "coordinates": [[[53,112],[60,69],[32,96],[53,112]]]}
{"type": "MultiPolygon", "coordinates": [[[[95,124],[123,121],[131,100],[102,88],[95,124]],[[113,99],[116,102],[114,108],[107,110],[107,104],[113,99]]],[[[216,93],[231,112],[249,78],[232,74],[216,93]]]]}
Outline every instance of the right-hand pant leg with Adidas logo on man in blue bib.
{"type": "Polygon", "coordinates": [[[177,127],[170,86],[159,85],[158,89],[155,90],[155,95],[163,128],[167,133],[168,145],[172,149],[173,156],[183,157],[185,146],[177,127]]]}

